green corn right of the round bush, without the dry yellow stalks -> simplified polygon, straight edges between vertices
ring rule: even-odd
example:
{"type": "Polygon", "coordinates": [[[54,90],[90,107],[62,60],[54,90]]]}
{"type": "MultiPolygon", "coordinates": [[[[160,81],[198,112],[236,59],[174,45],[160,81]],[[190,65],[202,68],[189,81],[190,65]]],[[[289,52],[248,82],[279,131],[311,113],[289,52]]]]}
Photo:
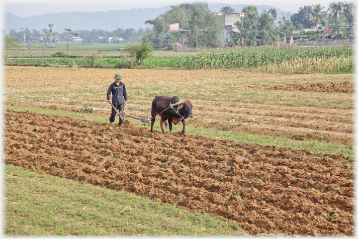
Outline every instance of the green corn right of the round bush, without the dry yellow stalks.
{"type": "MultiPolygon", "coordinates": [[[[197,55],[179,57],[150,57],[148,67],[172,67],[179,69],[235,69],[263,67],[280,64],[292,59],[331,57],[347,58],[353,65],[353,47],[272,47],[243,48],[221,51],[205,51],[197,55]],[[352,62],[351,62],[352,61],[352,62]]],[[[353,70],[353,68],[352,68],[353,70]]]]}

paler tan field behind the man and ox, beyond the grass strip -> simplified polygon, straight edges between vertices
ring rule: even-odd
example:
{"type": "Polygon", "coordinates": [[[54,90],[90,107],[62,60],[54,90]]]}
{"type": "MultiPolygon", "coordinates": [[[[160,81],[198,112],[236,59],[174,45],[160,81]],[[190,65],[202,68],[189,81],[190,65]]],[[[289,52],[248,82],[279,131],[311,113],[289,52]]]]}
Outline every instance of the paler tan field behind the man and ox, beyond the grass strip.
{"type": "Polygon", "coordinates": [[[146,118],[147,115],[142,112],[147,112],[150,116],[151,102],[156,95],[173,96],[179,92],[185,95],[185,98],[179,97],[180,100],[190,100],[193,104],[195,118],[188,121],[187,127],[354,144],[353,94],[339,93],[353,91],[353,74],[298,75],[251,70],[111,70],[6,66],[5,104],[73,112],[94,107],[101,111],[93,114],[108,116],[110,106],[105,100],[105,92],[112,83],[114,74],[119,71],[124,76],[123,82],[128,89],[130,100],[126,112],[129,115],[146,118]],[[18,86],[19,80],[23,79],[26,88],[18,86]],[[268,82],[270,85],[267,85],[268,82]],[[199,84],[198,89],[193,87],[195,83],[199,84]],[[38,92],[38,86],[45,92],[38,92]],[[93,92],[84,92],[84,87],[89,87],[93,92]],[[154,87],[163,90],[154,91],[154,87]],[[269,89],[274,94],[256,94],[261,88],[269,89]],[[218,96],[227,92],[225,98],[213,94],[218,89],[218,96]],[[297,100],[295,92],[303,89],[309,92],[298,93],[303,98],[297,100]],[[328,94],[322,95],[323,92],[328,94]],[[255,94],[257,99],[251,100],[249,96],[255,94]],[[299,101],[306,103],[298,105],[299,101]]]}

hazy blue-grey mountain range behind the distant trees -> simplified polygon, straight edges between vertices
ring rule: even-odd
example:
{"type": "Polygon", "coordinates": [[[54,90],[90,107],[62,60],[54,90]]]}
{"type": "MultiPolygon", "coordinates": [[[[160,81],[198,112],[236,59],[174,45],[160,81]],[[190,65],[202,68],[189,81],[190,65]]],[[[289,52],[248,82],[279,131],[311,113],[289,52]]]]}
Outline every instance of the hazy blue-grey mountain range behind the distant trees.
{"type": "MultiPolygon", "coordinates": [[[[223,6],[231,6],[236,12],[240,12],[244,6],[248,4],[228,4],[228,3],[208,3],[208,7],[213,12],[219,12],[223,6]]],[[[263,9],[269,10],[275,8],[277,12],[276,21],[282,14],[287,15],[289,12],[284,12],[276,7],[269,5],[254,5],[257,6],[259,13],[263,9]]],[[[49,29],[48,24],[54,24],[53,31],[63,32],[65,28],[76,30],[108,30],[114,31],[117,28],[146,28],[146,20],[155,19],[160,14],[170,10],[171,6],[163,6],[158,8],[133,8],[123,10],[110,10],[110,11],[73,11],[73,12],[59,12],[59,13],[46,13],[42,15],[35,15],[30,17],[16,16],[10,12],[3,12],[3,30],[9,33],[10,29],[20,31],[20,28],[28,28],[30,31],[33,29],[41,31],[43,28],[49,29]]]]}

